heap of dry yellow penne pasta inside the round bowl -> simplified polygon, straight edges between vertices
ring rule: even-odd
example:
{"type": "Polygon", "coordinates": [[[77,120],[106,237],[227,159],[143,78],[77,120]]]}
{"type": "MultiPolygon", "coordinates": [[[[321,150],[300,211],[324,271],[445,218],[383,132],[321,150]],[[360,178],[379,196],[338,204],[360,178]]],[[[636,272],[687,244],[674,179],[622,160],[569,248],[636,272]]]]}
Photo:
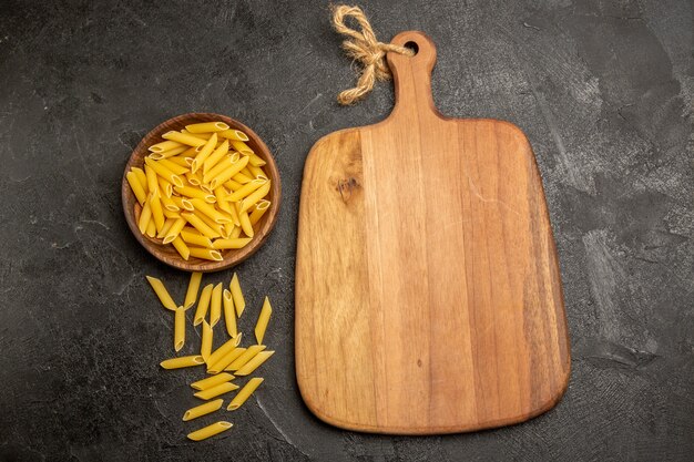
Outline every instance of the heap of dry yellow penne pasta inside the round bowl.
{"type": "Polygon", "coordinates": [[[185,260],[221,261],[247,246],[269,208],[273,182],[248,136],[224,122],[204,122],[162,138],[149,147],[142,168],[125,175],[140,232],[171,244],[185,260]]]}

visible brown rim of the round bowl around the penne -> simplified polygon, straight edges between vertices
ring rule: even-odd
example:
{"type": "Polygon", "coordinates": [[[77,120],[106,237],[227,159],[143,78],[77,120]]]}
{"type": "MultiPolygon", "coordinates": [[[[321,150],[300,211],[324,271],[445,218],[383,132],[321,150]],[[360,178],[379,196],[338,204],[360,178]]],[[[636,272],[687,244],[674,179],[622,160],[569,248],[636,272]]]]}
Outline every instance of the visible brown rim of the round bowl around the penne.
{"type": "Polygon", "coordinates": [[[246,125],[242,124],[238,121],[229,119],[225,115],[220,114],[210,114],[210,113],[190,113],[178,115],[177,117],[173,117],[162,123],[154,130],[152,130],[147,135],[137,144],[135,151],[133,151],[127,164],[125,165],[125,172],[123,173],[123,182],[121,186],[121,195],[123,199],[123,212],[125,213],[125,220],[127,222],[127,226],[133,232],[135,238],[142,244],[142,246],[152,254],[160,261],[165,263],[166,265],[173,266],[174,268],[183,269],[185,271],[220,271],[222,269],[231,268],[234,265],[237,265],[253,255],[265,242],[269,232],[275,226],[275,222],[277,220],[277,212],[279,211],[279,201],[280,201],[280,187],[279,187],[279,172],[277,172],[277,165],[275,164],[275,160],[271,154],[269,150],[263,143],[263,140],[255,132],[248,129],[246,125]],[[130,168],[133,166],[142,167],[144,164],[144,157],[149,154],[147,147],[154,143],[159,143],[162,141],[162,135],[172,130],[182,130],[185,125],[190,125],[193,123],[200,122],[212,122],[212,121],[221,121],[226,123],[229,127],[235,130],[241,130],[245,134],[248,135],[248,141],[246,144],[251,146],[251,148],[261,156],[267,165],[263,168],[269,175],[272,179],[272,187],[268,194],[267,199],[271,201],[269,211],[263,215],[261,220],[254,226],[255,227],[255,236],[253,240],[248,243],[244,248],[241,249],[229,249],[229,250],[221,250],[222,251],[222,261],[210,261],[195,257],[190,257],[188,260],[184,260],[181,255],[176,251],[176,249],[171,244],[162,244],[162,239],[150,238],[142,233],[137,228],[137,217],[140,216],[141,207],[133,194],[130,185],[127,184],[127,179],[125,178],[125,174],[130,172],[130,168]]]}

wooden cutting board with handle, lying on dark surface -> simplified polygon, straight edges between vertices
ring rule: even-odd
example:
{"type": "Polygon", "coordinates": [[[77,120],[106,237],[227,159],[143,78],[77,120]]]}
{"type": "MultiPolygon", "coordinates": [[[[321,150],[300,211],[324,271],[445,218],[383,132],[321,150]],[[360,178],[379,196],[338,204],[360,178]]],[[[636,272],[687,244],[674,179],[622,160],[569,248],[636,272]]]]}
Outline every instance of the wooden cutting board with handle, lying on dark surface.
{"type": "Polygon", "coordinates": [[[388,53],[396,106],[319,140],[304,171],[296,374],[322,420],[431,434],[517,423],[567,388],[569,339],[532,148],[435,107],[436,49],[388,53]]]}

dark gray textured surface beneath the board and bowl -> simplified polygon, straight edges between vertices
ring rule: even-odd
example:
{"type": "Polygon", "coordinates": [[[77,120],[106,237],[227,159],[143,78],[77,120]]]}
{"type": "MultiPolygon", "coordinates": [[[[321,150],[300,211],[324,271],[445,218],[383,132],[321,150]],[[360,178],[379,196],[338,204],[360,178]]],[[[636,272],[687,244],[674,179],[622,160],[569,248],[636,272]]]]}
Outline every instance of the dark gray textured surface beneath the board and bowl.
{"type": "Polygon", "coordinates": [[[381,40],[420,29],[436,41],[443,113],[509,120],[530,137],[571,332],[563,400],[524,424],[433,438],[340,431],[303,405],[293,285],[304,160],[318,137],[394,103],[381,84],[337,105],[354,74],[326,3],[2,1],[0,460],[693,460],[692,3],[364,4],[381,40]],[[143,251],[120,199],[135,144],[192,111],[252,126],[284,186],[272,238],[238,267],[251,309],[274,301],[277,353],[228,437],[198,444],[185,439],[198,423],[180,421],[198,374],[157,367],[172,317],[144,280],[181,297],[186,276],[143,251]]]}

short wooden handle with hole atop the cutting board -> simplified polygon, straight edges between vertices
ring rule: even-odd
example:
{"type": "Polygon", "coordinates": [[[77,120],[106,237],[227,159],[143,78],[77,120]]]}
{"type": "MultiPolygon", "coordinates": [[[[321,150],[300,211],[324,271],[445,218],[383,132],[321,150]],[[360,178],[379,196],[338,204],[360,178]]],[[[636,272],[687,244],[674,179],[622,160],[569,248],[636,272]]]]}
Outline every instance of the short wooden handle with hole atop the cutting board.
{"type": "Polygon", "coordinates": [[[431,97],[431,71],[436,64],[436,45],[423,32],[398,33],[390,43],[415,49],[417,54],[407,57],[396,52],[387,54],[395,84],[395,109],[389,119],[412,114],[440,116],[431,97]]]}

